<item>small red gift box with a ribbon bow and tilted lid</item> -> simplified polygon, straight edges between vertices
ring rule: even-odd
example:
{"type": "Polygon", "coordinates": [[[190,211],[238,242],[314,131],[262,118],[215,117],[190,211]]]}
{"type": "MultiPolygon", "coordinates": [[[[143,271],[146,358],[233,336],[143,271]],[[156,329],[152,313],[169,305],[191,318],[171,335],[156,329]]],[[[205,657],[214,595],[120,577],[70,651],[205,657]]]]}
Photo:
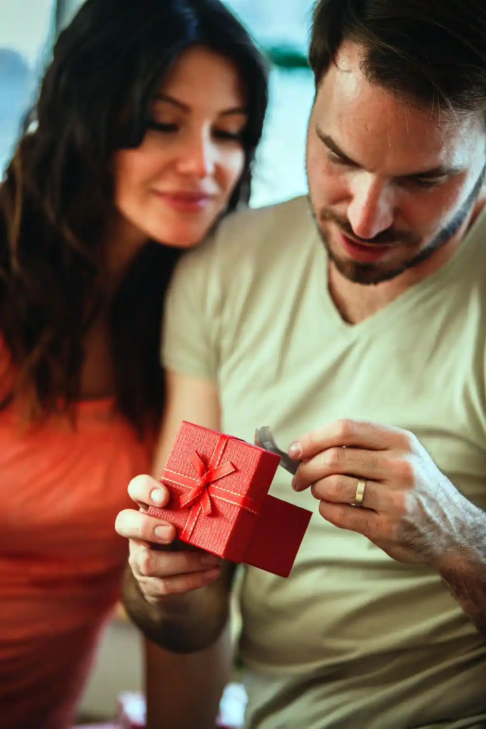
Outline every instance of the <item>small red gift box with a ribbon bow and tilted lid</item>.
{"type": "Polygon", "coordinates": [[[160,476],[171,500],[149,515],[173,523],[183,542],[288,577],[311,512],[268,494],[279,461],[183,421],[160,476]]]}

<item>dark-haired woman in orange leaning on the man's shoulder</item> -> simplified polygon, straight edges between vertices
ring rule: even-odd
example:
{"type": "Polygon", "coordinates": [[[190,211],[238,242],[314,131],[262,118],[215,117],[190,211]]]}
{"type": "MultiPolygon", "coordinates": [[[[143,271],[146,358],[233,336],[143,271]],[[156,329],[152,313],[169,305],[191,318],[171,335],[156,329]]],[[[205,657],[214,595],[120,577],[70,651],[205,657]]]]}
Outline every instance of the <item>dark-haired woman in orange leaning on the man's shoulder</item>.
{"type": "Polygon", "coordinates": [[[246,203],[264,64],[219,0],[87,0],[0,187],[0,706],[66,729],[119,596],[181,249],[246,203]],[[32,128],[32,125],[31,125],[32,128]]]}

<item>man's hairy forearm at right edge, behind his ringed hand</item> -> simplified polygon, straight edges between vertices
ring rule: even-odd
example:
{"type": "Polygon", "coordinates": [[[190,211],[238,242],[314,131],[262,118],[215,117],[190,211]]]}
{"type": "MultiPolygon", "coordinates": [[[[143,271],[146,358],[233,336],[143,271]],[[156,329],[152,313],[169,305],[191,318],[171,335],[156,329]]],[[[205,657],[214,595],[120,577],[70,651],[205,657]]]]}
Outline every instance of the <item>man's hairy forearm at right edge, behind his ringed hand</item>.
{"type": "Polygon", "coordinates": [[[439,569],[450,592],[486,637],[486,514],[469,504],[457,551],[439,569]]]}

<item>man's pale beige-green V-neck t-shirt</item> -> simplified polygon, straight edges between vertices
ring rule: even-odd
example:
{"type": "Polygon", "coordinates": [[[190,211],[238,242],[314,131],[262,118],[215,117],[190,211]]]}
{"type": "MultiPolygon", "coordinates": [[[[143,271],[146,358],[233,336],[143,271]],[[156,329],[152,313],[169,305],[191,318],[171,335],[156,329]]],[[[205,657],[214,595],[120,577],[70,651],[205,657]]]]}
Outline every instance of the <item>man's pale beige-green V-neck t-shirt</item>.
{"type": "MultiPolygon", "coordinates": [[[[222,430],[249,441],[270,425],[285,448],[337,418],[408,429],[486,509],[486,213],[360,324],[326,270],[305,198],[228,219],[176,271],[165,365],[216,380],[222,430]]],[[[326,523],[283,469],[270,493],[314,515],[289,579],[245,569],[248,728],[486,726],[486,643],[438,574],[326,523]]]]}

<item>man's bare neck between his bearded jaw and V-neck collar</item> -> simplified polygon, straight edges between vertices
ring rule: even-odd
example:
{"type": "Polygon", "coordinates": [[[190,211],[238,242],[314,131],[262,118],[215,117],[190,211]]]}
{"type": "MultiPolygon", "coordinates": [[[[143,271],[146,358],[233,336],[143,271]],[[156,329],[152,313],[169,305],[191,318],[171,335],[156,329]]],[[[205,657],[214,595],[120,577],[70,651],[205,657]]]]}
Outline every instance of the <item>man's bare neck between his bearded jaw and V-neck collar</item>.
{"type": "Polygon", "coordinates": [[[342,319],[347,321],[348,324],[359,324],[360,321],[368,319],[369,316],[385,308],[407,289],[442,268],[458,249],[460,241],[462,241],[485,205],[486,194],[477,201],[471,215],[454,238],[434,252],[426,261],[405,270],[396,278],[392,278],[391,281],[383,281],[383,283],[373,286],[356,284],[354,281],[349,281],[348,278],[342,276],[335,265],[329,262],[329,294],[342,319]]]}

